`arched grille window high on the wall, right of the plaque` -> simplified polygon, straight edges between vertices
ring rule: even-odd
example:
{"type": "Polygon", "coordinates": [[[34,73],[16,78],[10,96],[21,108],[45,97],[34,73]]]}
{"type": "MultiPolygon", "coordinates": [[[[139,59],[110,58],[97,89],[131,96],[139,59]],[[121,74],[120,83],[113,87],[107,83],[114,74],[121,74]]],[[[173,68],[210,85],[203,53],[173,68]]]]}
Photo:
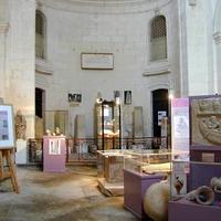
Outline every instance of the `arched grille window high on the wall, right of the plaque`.
{"type": "Polygon", "coordinates": [[[157,15],[150,24],[150,60],[167,59],[167,23],[164,15],[157,15]]]}

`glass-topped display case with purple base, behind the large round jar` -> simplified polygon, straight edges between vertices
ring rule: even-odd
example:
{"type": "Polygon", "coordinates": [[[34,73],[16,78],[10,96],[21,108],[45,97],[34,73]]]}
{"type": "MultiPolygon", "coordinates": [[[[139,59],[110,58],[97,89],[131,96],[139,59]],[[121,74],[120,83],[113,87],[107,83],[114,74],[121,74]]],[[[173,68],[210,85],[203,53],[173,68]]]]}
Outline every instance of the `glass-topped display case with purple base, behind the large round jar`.
{"type": "Polygon", "coordinates": [[[168,149],[127,150],[124,158],[124,207],[141,220],[146,190],[170,173],[171,152],[168,149]]]}

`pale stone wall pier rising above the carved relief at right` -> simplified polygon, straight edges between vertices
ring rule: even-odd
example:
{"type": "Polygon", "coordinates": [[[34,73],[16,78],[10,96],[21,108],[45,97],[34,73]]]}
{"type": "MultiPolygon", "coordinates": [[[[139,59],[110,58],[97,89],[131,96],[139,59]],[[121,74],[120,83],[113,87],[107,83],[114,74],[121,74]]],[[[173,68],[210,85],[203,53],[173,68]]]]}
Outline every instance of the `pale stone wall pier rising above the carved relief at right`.
{"type": "Polygon", "coordinates": [[[215,93],[213,57],[213,15],[217,0],[198,0],[196,6],[179,1],[182,93],[215,93]]]}

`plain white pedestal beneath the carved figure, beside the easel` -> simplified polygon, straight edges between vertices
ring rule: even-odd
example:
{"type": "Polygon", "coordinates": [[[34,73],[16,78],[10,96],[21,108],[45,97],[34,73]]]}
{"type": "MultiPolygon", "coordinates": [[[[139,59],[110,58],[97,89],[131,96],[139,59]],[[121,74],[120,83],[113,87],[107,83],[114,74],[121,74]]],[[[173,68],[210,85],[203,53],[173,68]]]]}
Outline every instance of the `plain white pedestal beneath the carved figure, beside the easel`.
{"type": "Polygon", "coordinates": [[[15,151],[15,164],[25,165],[27,164],[27,140],[17,140],[17,151],[15,151]]]}

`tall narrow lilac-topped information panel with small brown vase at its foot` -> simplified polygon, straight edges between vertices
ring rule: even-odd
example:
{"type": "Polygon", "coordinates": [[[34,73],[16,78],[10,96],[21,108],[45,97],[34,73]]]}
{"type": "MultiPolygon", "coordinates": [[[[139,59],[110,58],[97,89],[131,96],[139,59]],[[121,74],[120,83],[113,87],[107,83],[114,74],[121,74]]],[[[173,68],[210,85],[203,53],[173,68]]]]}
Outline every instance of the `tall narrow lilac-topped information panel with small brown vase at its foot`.
{"type": "Polygon", "coordinates": [[[189,173],[189,98],[171,101],[171,196],[179,198],[187,193],[189,173]]]}

